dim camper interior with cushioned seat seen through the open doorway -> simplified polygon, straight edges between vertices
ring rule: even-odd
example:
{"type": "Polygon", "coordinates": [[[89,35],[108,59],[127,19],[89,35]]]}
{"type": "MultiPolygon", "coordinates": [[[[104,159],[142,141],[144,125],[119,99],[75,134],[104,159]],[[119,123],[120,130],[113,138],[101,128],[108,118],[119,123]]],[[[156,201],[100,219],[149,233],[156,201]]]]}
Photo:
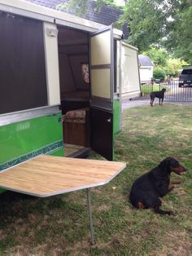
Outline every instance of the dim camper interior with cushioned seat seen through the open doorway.
{"type": "Polygon", "coordinates": [[[64,154],[85,157],[90,147],[89,33],[63,26],[58,30],[64,154]]]}

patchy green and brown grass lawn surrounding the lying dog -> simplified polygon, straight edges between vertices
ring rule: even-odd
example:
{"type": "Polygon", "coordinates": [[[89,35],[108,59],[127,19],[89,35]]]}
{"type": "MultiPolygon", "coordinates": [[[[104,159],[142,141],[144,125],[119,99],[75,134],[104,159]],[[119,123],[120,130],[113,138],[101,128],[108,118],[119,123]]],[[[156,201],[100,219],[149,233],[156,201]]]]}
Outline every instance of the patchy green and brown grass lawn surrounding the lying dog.
{"type": "Polygon", "coordinates": [[[192,106],[168,104],[124,111],[116,161],[127,168],[91,193],[96,245],[89,245],[85,191],[44,199],[7,192],[0,196],[0,255],[191,255],[191,113],[192,106]],[[176,216],[133,209],[133,181],[168,156],[188,169],[179,176],[183,183],[164,196],[162,208],[176,216]]]}

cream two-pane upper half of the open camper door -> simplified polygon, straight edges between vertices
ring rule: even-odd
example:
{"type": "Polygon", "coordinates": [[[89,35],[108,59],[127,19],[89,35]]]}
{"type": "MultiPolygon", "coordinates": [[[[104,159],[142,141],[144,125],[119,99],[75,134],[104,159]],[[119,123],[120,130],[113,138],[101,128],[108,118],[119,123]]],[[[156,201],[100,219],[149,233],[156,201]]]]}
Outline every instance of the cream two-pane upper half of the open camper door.
{"type": "Polygon", "coordinates": [[[91,105],[111,111],[113,100],[113,38],[109,27],[90,37],[91,105]]]}

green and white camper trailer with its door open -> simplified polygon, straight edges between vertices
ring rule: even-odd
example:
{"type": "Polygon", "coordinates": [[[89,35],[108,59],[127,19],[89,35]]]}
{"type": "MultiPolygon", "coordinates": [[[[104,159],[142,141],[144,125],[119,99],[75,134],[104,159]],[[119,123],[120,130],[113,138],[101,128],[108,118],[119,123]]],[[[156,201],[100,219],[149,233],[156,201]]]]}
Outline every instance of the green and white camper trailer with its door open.
{"type": "Polygon", "coordinates": [[[0,31],[0,170],[89,148],[112,160],[122,91],[140,94],[137,48],[111,26],[20,0],[0,0],[0,31]]]}

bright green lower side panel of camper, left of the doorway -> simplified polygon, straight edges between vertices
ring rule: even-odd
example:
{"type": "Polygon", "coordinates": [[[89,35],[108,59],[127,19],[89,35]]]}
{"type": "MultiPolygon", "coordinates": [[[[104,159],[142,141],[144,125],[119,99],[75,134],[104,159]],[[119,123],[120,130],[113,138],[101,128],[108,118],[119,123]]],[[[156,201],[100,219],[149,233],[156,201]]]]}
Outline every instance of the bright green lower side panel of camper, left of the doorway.
{"type": "Polygon", "coordinates": [[[61,112],[0,126],[0,171],[40,154],[63,157],[61,112]]]}

